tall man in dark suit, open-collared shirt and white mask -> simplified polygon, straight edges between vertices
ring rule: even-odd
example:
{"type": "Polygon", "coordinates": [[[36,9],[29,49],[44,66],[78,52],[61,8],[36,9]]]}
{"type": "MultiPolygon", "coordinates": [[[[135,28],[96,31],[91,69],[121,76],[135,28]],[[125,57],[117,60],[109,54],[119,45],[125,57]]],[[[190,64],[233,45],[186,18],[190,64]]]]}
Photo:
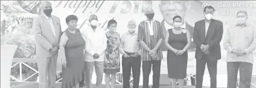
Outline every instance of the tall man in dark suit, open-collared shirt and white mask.
{"type": "Polygon", "coordinates": [[[210,74],[210,88],[217,88],[217,61],[221,59],[221,46],[223,24],[221,21],[212,19],[214,8],[207,6],[203,10],[205,19],[195,22],[193,33],[196,44],[196,85],[202,88],[205,65],[210,74]]]}

